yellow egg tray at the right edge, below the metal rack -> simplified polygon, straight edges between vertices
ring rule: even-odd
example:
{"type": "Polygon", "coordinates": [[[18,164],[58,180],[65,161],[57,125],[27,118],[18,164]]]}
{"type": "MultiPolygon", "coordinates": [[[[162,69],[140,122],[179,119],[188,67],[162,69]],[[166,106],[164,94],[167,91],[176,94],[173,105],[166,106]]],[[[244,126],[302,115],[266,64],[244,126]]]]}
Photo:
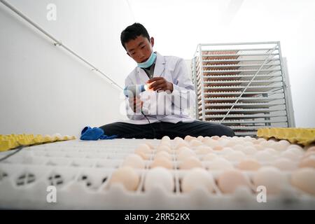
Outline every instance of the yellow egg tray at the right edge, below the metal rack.
{"type": "Polygon", "coordinates": [[[315,143],[315,128],[261,128],[257,131],[257,136],[266,139],[285,139],[292,144],[308,146],[315,143]]]}

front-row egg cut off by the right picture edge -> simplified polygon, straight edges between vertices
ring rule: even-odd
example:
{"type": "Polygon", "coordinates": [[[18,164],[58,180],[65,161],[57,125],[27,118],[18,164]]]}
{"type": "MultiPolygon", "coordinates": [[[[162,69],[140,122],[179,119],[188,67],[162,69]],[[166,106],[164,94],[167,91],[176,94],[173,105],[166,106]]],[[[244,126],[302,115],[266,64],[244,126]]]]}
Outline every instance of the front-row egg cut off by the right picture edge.
{"type": "Polygon", "coordinates": [[[302,168],[297,169],[291,174],[291,184],[295,188],[299,188],[306,193],[315,195],[315,169],[314,168],[302,168]]]}

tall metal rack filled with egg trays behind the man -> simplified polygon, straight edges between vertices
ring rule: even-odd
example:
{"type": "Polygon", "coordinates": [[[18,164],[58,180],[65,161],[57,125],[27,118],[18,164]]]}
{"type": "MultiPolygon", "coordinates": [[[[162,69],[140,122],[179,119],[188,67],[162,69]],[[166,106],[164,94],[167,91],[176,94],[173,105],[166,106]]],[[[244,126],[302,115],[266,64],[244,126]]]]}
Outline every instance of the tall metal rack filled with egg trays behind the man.
{"type": "Polygon", "coordinates": [[[295,127],[279,42],[199,44],[191,69],[197,120],[228,125],[237,136],[295,127]]]}

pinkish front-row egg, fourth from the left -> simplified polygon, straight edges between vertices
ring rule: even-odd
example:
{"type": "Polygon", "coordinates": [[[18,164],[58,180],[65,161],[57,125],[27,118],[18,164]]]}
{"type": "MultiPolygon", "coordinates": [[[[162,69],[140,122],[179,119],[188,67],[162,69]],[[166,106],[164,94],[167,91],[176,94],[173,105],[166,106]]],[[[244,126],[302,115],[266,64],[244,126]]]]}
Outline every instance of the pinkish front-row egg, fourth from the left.
{"type": "Polygon", "coordinates": [[[234,193],[240,186],[249,188],[250,182],[244,174],[236,169],[227,170],[218,176],[218,188],[223,193],[234,193]]]}

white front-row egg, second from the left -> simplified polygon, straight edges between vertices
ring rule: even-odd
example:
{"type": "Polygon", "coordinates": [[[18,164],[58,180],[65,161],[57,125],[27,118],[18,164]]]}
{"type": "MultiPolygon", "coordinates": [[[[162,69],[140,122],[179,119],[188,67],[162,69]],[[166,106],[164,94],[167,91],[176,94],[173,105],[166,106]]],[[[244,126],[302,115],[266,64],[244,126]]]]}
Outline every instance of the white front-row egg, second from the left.
{"type": "Polygon", "coordinates": [[[164,167],[155,167],[146,173],[144,189],[150,191],[155,187],[164,188],[168,192],[174,190],[174,177],[164,167]]]}

